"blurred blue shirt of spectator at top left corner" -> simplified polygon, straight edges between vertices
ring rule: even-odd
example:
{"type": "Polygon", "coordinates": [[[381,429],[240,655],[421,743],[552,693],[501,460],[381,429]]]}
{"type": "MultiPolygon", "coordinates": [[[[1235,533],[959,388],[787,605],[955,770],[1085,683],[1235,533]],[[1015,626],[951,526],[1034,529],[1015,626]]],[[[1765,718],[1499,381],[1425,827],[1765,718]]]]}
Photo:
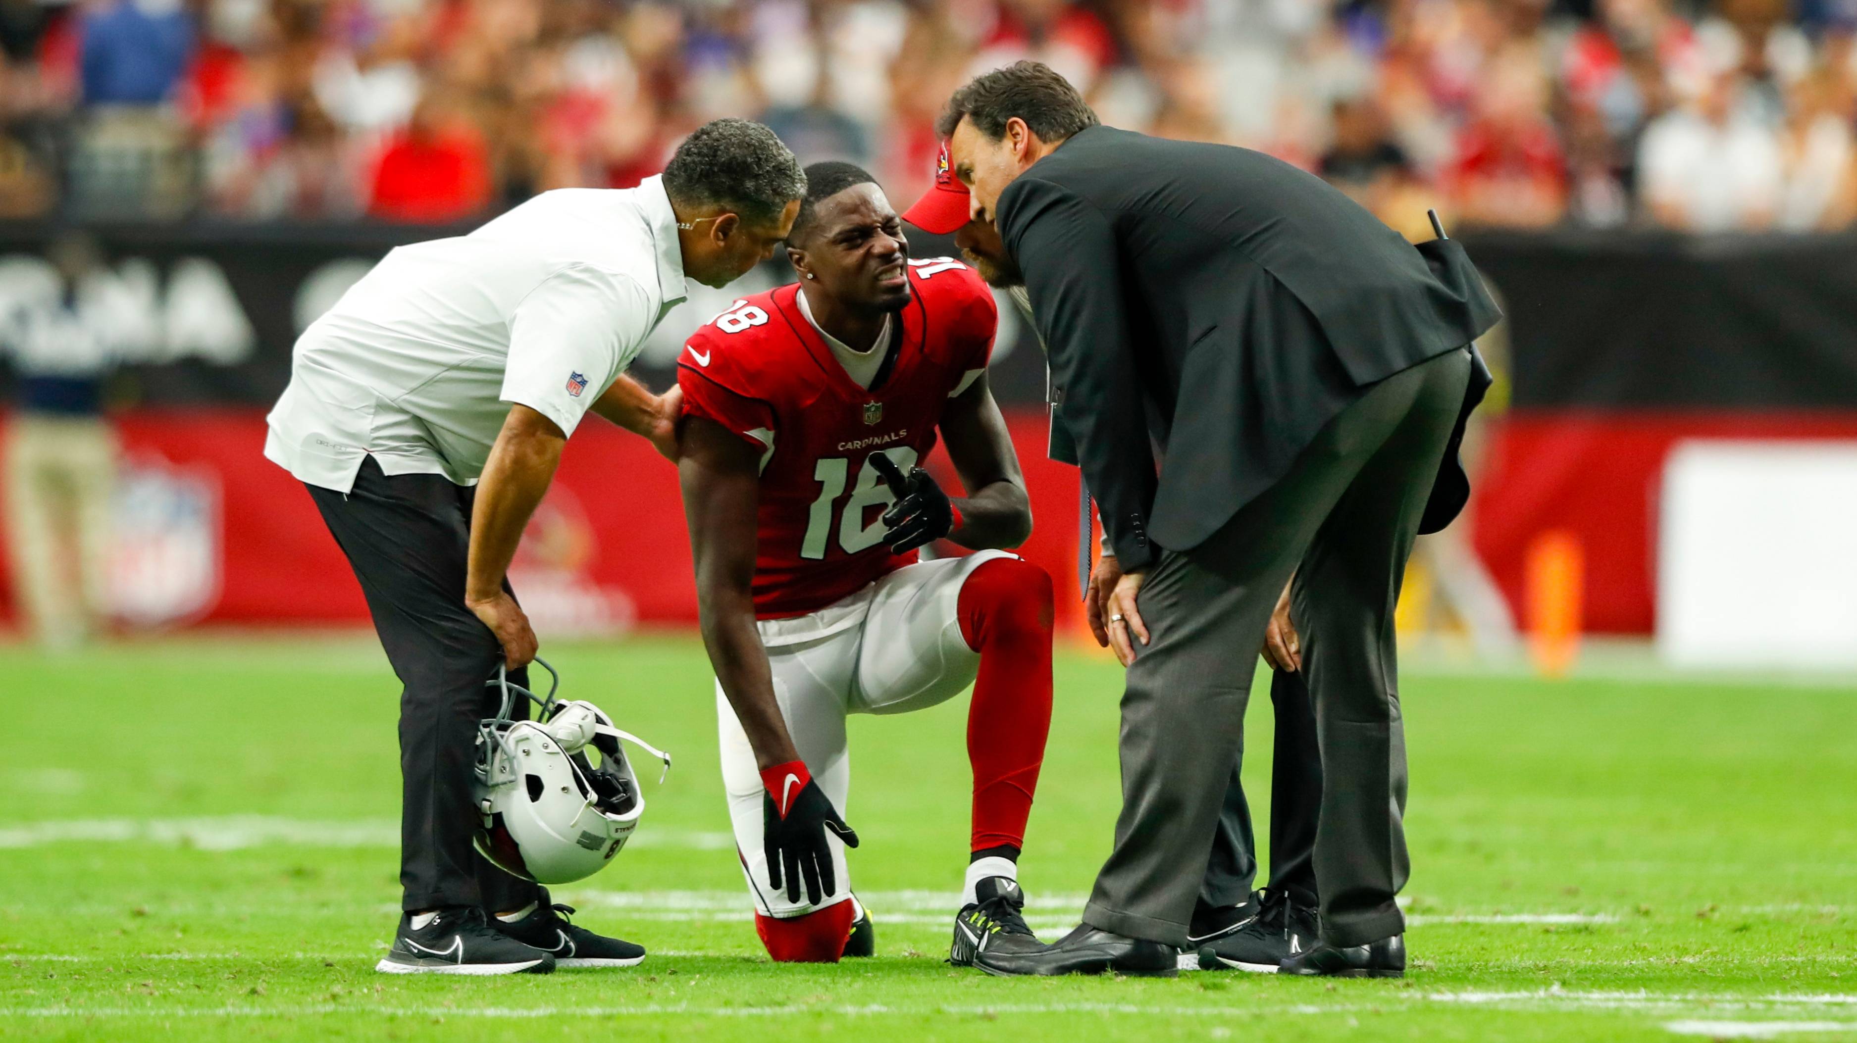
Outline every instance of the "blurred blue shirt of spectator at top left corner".
{"type": "Polygon", "coordinates": [[[180,0],[106,0],[84,17],[84,102],[171,100],[193,56],[193,19],[180,0]]]}

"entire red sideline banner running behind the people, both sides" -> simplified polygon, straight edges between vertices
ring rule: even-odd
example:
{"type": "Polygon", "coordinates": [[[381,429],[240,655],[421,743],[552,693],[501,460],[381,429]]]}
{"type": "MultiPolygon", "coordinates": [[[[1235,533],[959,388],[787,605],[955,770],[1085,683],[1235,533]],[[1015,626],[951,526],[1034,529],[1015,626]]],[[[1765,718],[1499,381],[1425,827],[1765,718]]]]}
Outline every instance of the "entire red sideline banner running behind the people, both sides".
{"type": "MultiPolygon", "coordinates": [[[[1060,625],[1077,633],[1077,471],[1045,458],[1040,408],[1008,406],[1006,416],[1036,520],[1021,553],[1051,573],[1060,625]]],[[[119,614],[143,627],[366,620],[360,588],[308,494],[262,457],[262,410],[136,410],[117,425],[119,614]]],[[[1560,529],[1584,549],[1586,629],[1643,635],[1656,622],[1656,494],[1671,447],[1686,438],[1857,438],[1857,412],[1517,410],[1491,429],[1471,523],[1517,618],[1528,546],[1560,529]]],[[[936,458],[938,477],[953,483],[936,458]]],[[[0,560],[0,618],[11,620],[7,570],[0,560]]],[[[695,622],[674,468],[617,427],[585,425],[568,442],[513,577],[544,633],[695,622]]]]}

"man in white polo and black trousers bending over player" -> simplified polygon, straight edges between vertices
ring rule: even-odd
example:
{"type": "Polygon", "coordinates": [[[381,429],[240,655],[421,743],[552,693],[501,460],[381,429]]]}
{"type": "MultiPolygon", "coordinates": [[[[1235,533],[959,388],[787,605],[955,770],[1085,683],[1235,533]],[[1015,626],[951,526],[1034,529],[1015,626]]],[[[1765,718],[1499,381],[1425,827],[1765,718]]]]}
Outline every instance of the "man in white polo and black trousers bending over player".
{"type": "Polygon", "coordinates": [[[624,375],[685,277],[726,286],[793,226],[806,178],[771,130],[698,128],[637,189],[544,193],[461,238],[390,252],[319,317],[264,455],[301,479],[405,687],[399,932],[386,972],[630,967],[472,846],[477,720],[537,640],[503,573],[592,410],[676,455],[676,392],[624,375]]]}

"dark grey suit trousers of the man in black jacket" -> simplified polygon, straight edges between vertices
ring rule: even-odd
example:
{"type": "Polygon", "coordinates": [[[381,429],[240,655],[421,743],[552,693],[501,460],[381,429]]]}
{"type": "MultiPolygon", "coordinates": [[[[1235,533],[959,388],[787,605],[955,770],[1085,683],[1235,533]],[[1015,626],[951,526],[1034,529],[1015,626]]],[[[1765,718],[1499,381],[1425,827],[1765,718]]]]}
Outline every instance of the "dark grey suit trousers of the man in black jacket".
{"type": "Polygon", "coordinates": [[[1370,386],[1205,544],[1164,551],[1138,596],[1149,642],[1122,696],[1122,815],[1084,922],[1185,946],[1239,768],[1265,625],[1289,577],[1322,752],[1313,867],[1322,939],[1404,930],[1406,742],[1393,609],[1471,356],[1370,386]]]}

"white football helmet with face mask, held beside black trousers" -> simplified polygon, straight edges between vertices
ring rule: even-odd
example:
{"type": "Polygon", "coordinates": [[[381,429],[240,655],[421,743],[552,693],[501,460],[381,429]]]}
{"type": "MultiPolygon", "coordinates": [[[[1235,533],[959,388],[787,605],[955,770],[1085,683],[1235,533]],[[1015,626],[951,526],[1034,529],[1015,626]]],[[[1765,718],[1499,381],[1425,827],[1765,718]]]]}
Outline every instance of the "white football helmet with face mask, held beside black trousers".
{"type": "Polygon", "coordinates": [[[613,861],[644,815],[620,739],[659,757],[665,772],[670,755],[592,703],[555,700],[561,676],[535,663],[552,677],[548,698],[509,683],[503,668],[487,681],[503,703],[477,726],[477,850],[537,883],[570,883],[613,861]],[[514,720],[518,698],[537,703],[535,720],[514,720]]]}

